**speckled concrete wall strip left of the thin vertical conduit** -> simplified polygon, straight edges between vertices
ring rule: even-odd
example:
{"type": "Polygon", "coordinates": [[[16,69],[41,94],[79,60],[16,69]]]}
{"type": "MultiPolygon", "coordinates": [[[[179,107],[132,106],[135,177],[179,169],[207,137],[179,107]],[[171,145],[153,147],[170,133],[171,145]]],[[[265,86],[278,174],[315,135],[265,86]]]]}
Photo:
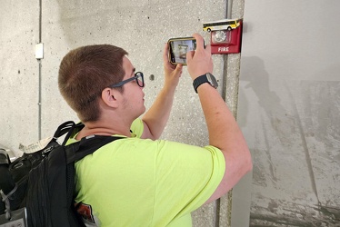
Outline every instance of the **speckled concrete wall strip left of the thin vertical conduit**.
{"type": "Polygon", "coordinates": [[[39,5],[1,1],[0,18],[0,144],[17,150],[38,139],[39,5]]]}

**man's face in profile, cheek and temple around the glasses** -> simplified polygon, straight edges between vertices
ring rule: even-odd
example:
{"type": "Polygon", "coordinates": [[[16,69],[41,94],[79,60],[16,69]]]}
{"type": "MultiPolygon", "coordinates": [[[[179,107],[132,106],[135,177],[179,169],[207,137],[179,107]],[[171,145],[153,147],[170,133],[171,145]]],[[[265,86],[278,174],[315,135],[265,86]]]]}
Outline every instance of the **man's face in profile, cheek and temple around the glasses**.
{"type": "MultiPolygon", "coordinates": [[[[129,79],[135,76],[135,67],[131,64],[130,60],[124,56],[123,68],[125,70],[125,76],[123,80],[129,79]]],[[[124,96],[124,108],[134,114],[135,118],[145,113],[145,100],[143,87],[140,87],[135,80],[124,84],[123,90],[124,96]]],[[[135,119],[134,119],[135,120],[135,119]]]]}

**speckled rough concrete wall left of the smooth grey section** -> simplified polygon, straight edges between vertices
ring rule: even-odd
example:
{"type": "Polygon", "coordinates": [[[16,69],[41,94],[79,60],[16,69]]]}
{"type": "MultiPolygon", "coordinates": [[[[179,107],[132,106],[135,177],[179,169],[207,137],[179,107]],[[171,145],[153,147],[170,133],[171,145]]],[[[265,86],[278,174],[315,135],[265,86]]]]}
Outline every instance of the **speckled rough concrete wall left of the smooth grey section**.
{"type": "MultiPolygon", "coordinates": [[[[58,66],[70,49],[85,44],[115,44],[125,48],[135,68],[145,74],[148,107],[164,83],[165,42],[171,37],[190,36],[195,32],[209,37],[202,32],[203,22],[225,18],[226,11],[242,17],[244,8],[243,0],[0,2],[0,144],[16,155],[20,153],[19,143],[35,143],[51,136],[59,123],[77,121],[57,88],[58,66]],[[44,44],[41,60],[35,59],[38,43],[44,44]]],[[[226,101],[234,112],[239,59],[240,54],[214,56],[219,91],[227,94],[226,101]]],[[[198,97],[185,70],[163,138],[196,145],[208,142],[198,97]]],[[[229,226],[230,198],[231,193],[196,211],[195,226],[229,226]]],[[[247,217],[248,213],[245,220],[247,217]]]]}

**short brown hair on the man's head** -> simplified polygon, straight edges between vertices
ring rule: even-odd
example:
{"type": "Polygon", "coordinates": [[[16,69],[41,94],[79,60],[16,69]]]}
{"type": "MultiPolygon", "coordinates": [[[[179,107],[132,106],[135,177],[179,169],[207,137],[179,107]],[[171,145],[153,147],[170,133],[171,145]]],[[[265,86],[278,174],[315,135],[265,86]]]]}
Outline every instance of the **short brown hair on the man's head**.
{"type": "Polygon", "coordinates": [[[60,93],[82,122],[100,116],[98,98],[105,87],[123,80],[127,52],[115,45],[86,45],[63,58],[58,76],[60,93]]]}

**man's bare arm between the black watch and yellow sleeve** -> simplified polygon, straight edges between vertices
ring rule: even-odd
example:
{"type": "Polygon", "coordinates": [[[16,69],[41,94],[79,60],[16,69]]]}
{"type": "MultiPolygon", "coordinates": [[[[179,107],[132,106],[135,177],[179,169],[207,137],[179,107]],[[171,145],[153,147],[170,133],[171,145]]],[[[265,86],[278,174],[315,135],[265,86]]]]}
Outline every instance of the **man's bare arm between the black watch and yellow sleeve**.
{"type": "Polygon", "coordinates": [[[209,84],[202,84],[198,94],[208,127],[209,144],[219,148],[225,156],[225,176],[211,198],[215,200],[252,169],[252,161],[244,135],[218,91],[209,84]]]}

